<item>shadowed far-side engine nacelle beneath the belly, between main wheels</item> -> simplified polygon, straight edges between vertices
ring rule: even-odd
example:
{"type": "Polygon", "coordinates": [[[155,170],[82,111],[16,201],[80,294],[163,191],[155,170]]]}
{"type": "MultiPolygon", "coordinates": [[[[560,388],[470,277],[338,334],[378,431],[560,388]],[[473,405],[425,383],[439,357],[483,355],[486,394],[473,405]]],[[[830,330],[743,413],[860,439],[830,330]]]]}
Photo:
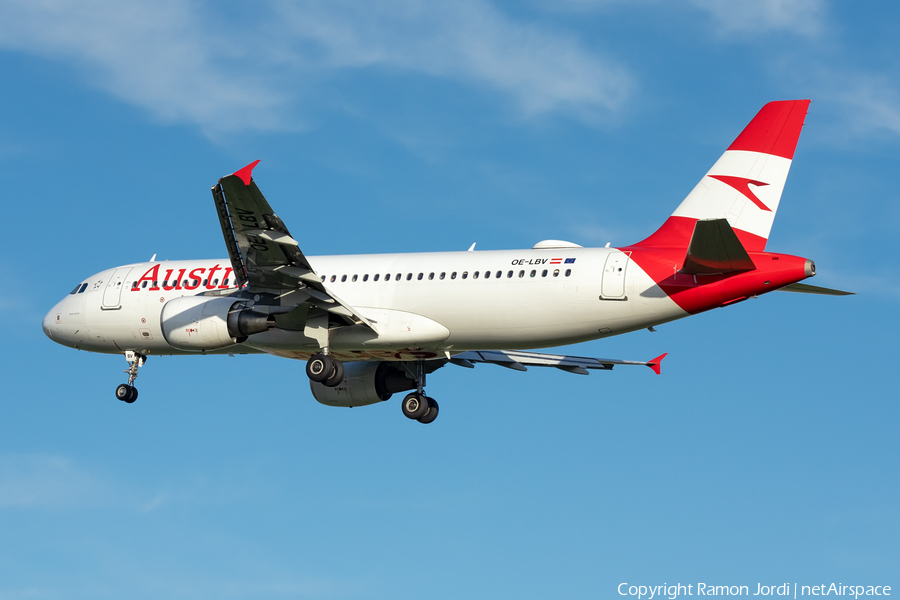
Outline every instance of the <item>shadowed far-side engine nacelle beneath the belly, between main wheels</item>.
{"type": "Polygon", "coordinates": [[[416,389],[416,382],[389,362],[344,363],[344,380],[330,388],[314,381],[309,389],[320,403],[327,406],[366,406],[384,402],[396,392],[416,389]]]}

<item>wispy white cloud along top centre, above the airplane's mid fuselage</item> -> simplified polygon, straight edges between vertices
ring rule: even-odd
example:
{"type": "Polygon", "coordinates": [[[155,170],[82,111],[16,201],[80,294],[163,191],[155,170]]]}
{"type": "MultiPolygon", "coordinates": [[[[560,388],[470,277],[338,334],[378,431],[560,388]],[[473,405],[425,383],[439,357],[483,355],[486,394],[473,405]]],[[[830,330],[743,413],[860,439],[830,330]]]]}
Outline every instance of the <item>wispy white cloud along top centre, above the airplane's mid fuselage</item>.
{"type": "Polygon", "coordinates": [[[285,39],[315,43],[330,67],[382,66],[473,81],[508,93],[528,115],[615,110],[631,86],[623,68],[570,37],[516,23],[479,0],[278,6],[290,32],[285,39]]]}

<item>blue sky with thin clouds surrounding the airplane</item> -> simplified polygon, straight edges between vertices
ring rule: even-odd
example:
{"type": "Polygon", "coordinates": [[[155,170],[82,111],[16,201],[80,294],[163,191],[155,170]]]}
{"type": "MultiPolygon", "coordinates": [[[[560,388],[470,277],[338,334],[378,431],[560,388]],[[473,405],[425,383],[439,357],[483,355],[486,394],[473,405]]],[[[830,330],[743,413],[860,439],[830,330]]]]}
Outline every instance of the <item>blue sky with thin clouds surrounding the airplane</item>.
{"type": "Polygon", "coordinates": [[[889,3],[0,2],[0,598],[613,598],[900,587],[900,52],[889,3]],[[770,294],[567,349],[663,375],[447,366],[441,416],[303,364],[57,346],[84,277],[225,255],[255,159],[310,255],[625,245],[767,101],[811,98],[770,294]]]}

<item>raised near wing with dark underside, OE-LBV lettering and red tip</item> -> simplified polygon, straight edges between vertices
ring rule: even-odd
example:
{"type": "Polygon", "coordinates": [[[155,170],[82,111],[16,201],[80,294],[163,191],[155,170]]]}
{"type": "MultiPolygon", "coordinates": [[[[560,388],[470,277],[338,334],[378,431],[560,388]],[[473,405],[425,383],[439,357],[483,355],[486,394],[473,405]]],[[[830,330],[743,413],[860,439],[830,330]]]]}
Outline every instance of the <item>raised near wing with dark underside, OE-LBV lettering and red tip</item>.
{"type": "Polygon", "coordinates": [[[348,324],[372,324],[325,288],[251,178],[259,161],[223,177],[212,193],[231,267],[241,288],[283,295],[301,292],[296,303],[308,302],[335,314],[348,324]]]}

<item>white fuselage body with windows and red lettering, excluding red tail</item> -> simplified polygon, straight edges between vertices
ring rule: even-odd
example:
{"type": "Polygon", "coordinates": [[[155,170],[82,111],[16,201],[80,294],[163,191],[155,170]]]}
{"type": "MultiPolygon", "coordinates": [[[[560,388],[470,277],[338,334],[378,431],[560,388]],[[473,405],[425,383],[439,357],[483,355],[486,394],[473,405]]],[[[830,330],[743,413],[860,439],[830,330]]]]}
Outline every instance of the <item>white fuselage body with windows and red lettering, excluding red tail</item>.
{"type": "MultiPolygon", "coordinates": [[[[334,352],[355,360],[559,346],[688,314],[615,248],[319,256],[309,261],[330,293],[374,322],[377,336],[364,326],[345,327],[335,335],[334,352]]],[[[191,353],[167,341],[161,323],[166,303],[201,293],[238,292],[227,259],[137,263],[102,271],[82,283],[86,285],[47,314],[44,330],[64,345],[115,354],[191,353]]],[[[306,359],[317,349],[302,328],[279,326],[214,352],[306,359]]]]}

